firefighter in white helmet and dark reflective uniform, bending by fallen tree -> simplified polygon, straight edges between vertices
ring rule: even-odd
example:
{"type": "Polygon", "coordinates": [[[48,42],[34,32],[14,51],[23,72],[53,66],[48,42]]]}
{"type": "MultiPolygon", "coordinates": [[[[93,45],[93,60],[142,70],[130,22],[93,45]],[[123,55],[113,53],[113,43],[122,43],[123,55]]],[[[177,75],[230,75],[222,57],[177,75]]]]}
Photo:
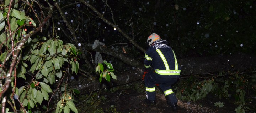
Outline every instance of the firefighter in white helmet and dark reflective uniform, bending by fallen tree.
{"type": "Polygon", "coordinates": [[[146,87],[146,103],[155,104],[155,86],[164,92],[167,104],[175,111],[177,110],[177,97],[171,85],[180,77],[180,67],[174,51],[167,45],[168,41],[162,40],[158,34],[151,34],[147,43],[150,46],[145,54],[144,83],[146,87]],[[152,70],[151,70],[152,67],[152,70]]]}

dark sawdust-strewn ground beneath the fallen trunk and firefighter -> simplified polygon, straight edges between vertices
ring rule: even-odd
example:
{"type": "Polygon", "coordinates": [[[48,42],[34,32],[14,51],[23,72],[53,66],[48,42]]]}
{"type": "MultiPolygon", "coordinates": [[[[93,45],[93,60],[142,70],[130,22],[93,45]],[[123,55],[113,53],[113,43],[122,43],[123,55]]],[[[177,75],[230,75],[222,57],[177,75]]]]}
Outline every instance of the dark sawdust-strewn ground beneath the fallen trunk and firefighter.
{"type": "Polygon", "coordinates": [[[196,102],[179,100],[178,110],[172,111],[166,104],[160,88],[156,88],[155,105],[144,103],[144,90],[144,83],[140,81],[102,89],[92,93],[86,101],[84,99],[90,94],[81,95],[76,107],[79,113],[235,113],[234,109],[238,106],[228,99],[219,100],[214,96],[208,96],[196,102]],[[214,106],[214,103],[219,101],[224,102],[223,107],[214,106]]]}

